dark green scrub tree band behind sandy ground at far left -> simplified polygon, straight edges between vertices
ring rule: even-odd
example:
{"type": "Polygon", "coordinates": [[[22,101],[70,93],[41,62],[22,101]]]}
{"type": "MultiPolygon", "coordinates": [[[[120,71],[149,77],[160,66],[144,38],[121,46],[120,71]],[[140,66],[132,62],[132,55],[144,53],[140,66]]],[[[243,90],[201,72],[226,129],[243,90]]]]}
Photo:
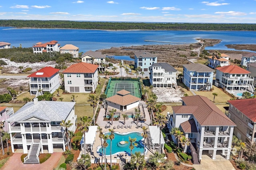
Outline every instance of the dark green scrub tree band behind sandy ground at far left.
{"type": "MultiPolygon", "coordinates": [[[[10,59],[10,61],[14,61],[17,63],[36,63],[41,61],[56,61],[56,63],[61,64],[65,61],[73,62],[72,55],[69,53],[60,54],[60,52],[52,52],[52,53],[33,53],[32,47],[30,48],[16,48],[12,47],[11,49],[1,49],[0,50],[0,59],[6,58],[10,59]]],[[[0,60],[0,65],[6,64],[4,61],[0,60]]]]}

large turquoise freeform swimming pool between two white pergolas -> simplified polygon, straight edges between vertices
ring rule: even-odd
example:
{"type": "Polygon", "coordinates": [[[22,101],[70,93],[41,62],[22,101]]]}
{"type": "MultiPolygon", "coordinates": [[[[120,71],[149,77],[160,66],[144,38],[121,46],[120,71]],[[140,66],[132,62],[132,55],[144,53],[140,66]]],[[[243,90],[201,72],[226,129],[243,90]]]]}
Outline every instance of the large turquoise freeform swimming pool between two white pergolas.
{"type": "MultiPolygon", "coordinates": [[[[129,149],[129,137],[131,138],[136,138],[136,143],[138,144],[137,147],[134,147],[134,149],[132,150],[133,153],[135,152],[141,152],[143,153],[144,150],[144,146],[140,143],[142,136],[140,132],[130,132],[130,133],[126,133],[126,134],[120,134],[120,133],[114,133],[115,134],[115,138],[112,140],[112,155],[118,154],[120,152],[131,152],[131,150],[129,149]],[[120,141],[127,141],[128,143],[124,144],[124,145],[120,145],[120,141]]],[[[110,135],[110,133],[105,133],[105,135],[110,135]]],[[[108,143],[108,147],[106,147],[106,156],[110,156],[110,139],[107,140],[108,143]]],[[[147,151],[147,149],[146,149],[147,151]]],[[[99,153],[100,155],[102,154],[102,148],[101,146],[98,147],[97,149],[97,153],[99,153]]],[[[104,153],[104,149],[103,149],[103,153],[104,153]]]]}

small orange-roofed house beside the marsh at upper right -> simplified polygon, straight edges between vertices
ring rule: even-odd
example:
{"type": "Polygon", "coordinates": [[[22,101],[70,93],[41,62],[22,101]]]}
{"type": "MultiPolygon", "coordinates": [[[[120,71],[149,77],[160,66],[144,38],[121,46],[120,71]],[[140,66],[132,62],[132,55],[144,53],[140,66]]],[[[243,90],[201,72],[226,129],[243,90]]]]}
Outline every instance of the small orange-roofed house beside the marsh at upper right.
{"type": "Polygon", "coordinates": [[[220,58],[218,59],[216,56],[210,56],[208,57],[208,66],[215,69],[216,67],[219,67],[219,66],[228,66],[230,65],[230,62],[229,62],[229,56],[222,53],[220,54],[220,58]]]}

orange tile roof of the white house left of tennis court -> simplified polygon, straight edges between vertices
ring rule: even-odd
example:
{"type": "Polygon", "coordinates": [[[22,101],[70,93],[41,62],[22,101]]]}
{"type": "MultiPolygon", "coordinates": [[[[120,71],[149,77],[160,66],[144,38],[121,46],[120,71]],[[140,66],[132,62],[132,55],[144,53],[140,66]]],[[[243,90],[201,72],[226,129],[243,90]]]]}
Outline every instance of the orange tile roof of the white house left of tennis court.
{"type": "Polygon", "coordinates": [[[94,73],[98,65],[89,63],[77,63],[69,66],[63,73],[94,73]]]}

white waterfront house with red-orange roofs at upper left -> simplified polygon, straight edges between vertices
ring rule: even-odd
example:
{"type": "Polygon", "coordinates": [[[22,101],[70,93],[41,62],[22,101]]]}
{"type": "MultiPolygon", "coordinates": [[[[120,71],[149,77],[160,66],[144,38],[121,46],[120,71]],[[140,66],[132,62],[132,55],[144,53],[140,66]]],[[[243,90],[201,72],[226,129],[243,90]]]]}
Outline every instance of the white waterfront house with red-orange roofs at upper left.
{"type": "Polygon", "coordinates": [[[32,46],[33,53],[43,53],[43,52],[59,52],[60,51],[60,44],[58,44],[58,41],[50,41],[47,43],[36,43],[32,46]]]}

